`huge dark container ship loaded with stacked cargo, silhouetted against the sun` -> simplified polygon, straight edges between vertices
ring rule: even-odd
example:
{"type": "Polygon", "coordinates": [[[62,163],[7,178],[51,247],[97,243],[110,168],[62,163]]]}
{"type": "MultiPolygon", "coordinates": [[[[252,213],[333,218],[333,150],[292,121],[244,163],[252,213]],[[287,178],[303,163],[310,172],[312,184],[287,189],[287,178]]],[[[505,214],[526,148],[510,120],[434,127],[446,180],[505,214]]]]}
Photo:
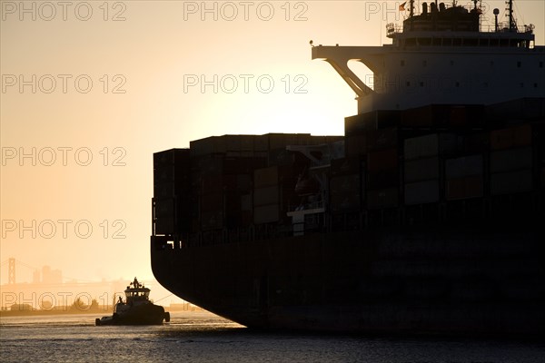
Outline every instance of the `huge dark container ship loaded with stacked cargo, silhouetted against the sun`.
{"type": "Polygon", "coordinates": [[[543,336],[545,46],[506,4],[484,30],[479,1],[409,1],[392,44],[312,46],[357,94],[343,136],[154,153],[155,278],[251,328],[543,336]]]}

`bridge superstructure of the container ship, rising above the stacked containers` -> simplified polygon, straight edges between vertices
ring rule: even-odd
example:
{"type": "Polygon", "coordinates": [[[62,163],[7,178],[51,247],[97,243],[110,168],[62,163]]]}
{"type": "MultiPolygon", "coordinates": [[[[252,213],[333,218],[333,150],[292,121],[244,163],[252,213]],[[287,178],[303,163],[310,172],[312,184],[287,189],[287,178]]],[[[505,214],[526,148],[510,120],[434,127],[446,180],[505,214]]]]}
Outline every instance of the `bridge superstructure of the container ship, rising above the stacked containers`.
{"type": "Polygon", "coordinates": [[[481,8],[423,3],[420,15],[403,26],[387,25],[393,44],[312,46],[312,59],[332,65],[356,93],[358,113],[404,110],[429,103],[491,104],[521,97],[545,97],[545,47],[534,45],[533,25],[520,27],[512,15],[506,25],[481,31],[481,8]],[[372,74],[354,74],[350,61],[372,74]],[[502,74],[502,77],[498,77],[502,74]]]}

